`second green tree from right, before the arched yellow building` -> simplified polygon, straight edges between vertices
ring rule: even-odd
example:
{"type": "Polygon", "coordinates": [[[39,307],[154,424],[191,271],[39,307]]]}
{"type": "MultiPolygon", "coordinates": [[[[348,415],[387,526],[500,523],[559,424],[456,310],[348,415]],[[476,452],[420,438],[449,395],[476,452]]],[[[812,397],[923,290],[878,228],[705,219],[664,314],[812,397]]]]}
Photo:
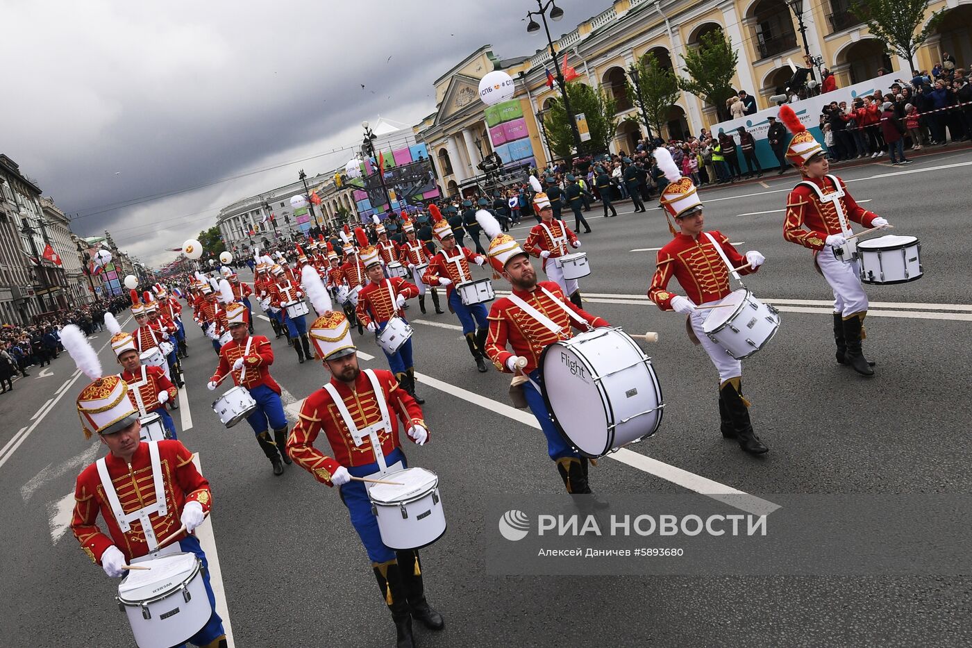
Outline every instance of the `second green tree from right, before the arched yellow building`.
{"type": "Polygon", "coordinates": [[[721,29],[715,29],[702,36],[699,48],[689,50],[681,59],[685,64],[682,70],[689,78],[679,78],[678,87],[714,106],[720,122],[728,120],[726,99],[734,94],[732,78],[739,62],[739,53],[733,49],[729,39],[721,29]]]}

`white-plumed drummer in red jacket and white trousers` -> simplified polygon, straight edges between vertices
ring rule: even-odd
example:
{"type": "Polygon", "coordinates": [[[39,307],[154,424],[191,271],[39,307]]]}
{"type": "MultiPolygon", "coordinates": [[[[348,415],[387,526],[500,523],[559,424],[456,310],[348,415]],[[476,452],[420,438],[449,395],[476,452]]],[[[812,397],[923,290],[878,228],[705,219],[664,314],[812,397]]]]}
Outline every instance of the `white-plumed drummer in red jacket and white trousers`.
{"type": "MultiPolygon", "coordinates": [[[[735,439],[740,448],[750,454],[764,454],[769,449],[752,431],[749,420],[749,402],[743,397],[743,364],[729,355],[717,342],[706,335],[704,324],[710,309],[697,306],[711,306],[732,293],[729,287],[729,269],[722,261],[715,246],[703,230],[705,217],[702,202],[695,185],[689,178],[681,177],[672,154],[666,149],[655,150],[658,167],[666,174],[669,185],[662,192],[661,202],[665,207],[666,219],[675,218],[680,230],[677,234],[669,229],[675,238],[658,251],[658,262],[648,298],[662,310],[674,310],[688,316],[692,342],[702,344],[709,354],[715,370],[719,374],[719,420],[722,436],[735,439]],[[685,291],[686,297],[668,290],[672,277],[685,291]]],[[[755,250],[741,255],[729,242],[729,237],[717,231],[709,232],[740,274],[755,272],[766,260],[755,250]]]]}

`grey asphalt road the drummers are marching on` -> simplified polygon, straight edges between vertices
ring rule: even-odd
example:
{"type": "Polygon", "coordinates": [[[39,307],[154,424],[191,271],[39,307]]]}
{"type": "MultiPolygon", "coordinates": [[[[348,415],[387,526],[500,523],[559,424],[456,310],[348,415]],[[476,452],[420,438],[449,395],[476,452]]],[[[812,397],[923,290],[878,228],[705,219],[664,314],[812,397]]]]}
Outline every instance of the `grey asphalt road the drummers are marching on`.
{"type": "MultiPolygon", "coordinates": [[[[720,438],[712,364],[686,339],[681,317],[644,299],[655,258],[645,248],[670,238],[661,212],[632,214],[622,203],[618,218],[591,219],[594,232],[581,237],[593,269],[581,281],[588,309],[629,332],[661,336],[645,348],[665,392],[665,421],[654,438],[632,450],[770,501],[773,493],[972,490],[972,282],[963,189],[970,168],[972,152],[945,151],[909,167],[838,171],[853,196],[869,200],[867,208],[885,216],[895,234],[921,240],[925,275],[919,281],[867,289],[873,304],[865,350],[878,362],[873,379],[834,363],[831,295],[810,253],[781,238],[792,176],[703,192],[707,228],[767,257],[747,285],[782,311],[777,337],[745,363],[753,423],[771,448],[763,458],[720,438]]],[[[599,216],[600,207],[587,215],[599,216]]],[[[526,231],[514,234],[522,240],[526,231]]],[[[446,535],[423,551],[427,593],[445,616],[446,630],[417,630],[420,645],[972,642],[965,623],[972,605],[967,577],[489,576],[483,543],[503,542],[483,532],[484,523],[494,523],[483,520],[489,499],[559,493],[560,479],[534,427],[487,401],[470,402],[485,397],[506,405],[508,377],[476,372],[458,320],[449,313],[421,315],[417,304],[408,313],[417,371],[434,381],[419,385],[432,442],[424,448],[406,442],[406,452],[412,465],[439,475],[449,522],[446,535]]],[[[265,320],[257,329],[272,338],[265,320]]],[[[249,428],[220,425],[205,389],[216,355],[197,328],[188,332],[188,389],[174,414],[180,439],[199,453],[213,486],[212,531],[234,645],[392,645],[390,615],[336,491],[295,466],[274,477],[249,428]],[[181,413],[190,414],[188,429],[181,413]]],[[[107,341],[102,333],[92,343],[101,349],[107,341]]],[[[295,399],[328,379],[320,364],[298,365],[293,349],[282,339],[273,342],[272,374],[295,399]]],[[[373,341],[365,336],[360,347],[377,356],[364,367],[385,368],[373,341]]],[[[110,349],[102,349],[101,358],[106,368],[115,366],[110,349]]],[[[0,544],[9,593],[0,645],[132,644],[114,603],[117,583],[87,561],[64,527],[74,478],[101,451],[81,433],[74,399],[82,379],[73,381],[74,372],[63,354],[50,375],[34,368],[13,394],[0,397],[0,490],[6,494],[0,544]]],[[[608,497],[690,492],[610,459],[592,468],[591,482],[608,497]]]]}

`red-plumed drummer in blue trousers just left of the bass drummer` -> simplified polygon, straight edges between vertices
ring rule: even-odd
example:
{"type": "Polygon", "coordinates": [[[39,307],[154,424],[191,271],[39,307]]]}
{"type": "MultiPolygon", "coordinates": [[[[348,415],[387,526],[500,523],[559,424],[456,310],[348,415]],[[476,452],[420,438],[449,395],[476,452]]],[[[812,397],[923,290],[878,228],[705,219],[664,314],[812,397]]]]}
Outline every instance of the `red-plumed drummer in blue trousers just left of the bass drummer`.
{"type": "Polygon", "coordinates": [[[476,362],[476,369],[479,373],[485,374],[489,371],[486,363],[483,362],[485,355],[483,348],[486,344],[486,334],[489,333],[486,306],[483,304],[466,306],[456,291],[456,286],[472,280],[469,262],[482,266],[486,263],[486,256],[473,254],[469,248],[458,245],[456,235],[453,234],[448,221],[438,211],[438,207],[434,204],[429,205],[429,211],[433,218],[433,234],[442,249],[430,259],[429,268],[422,275],[422,280],[429,286],[445,286],[445,301],[463,325],[463,335],[466,336],[466,343],[469,344],[469,353],[476,362]]]}

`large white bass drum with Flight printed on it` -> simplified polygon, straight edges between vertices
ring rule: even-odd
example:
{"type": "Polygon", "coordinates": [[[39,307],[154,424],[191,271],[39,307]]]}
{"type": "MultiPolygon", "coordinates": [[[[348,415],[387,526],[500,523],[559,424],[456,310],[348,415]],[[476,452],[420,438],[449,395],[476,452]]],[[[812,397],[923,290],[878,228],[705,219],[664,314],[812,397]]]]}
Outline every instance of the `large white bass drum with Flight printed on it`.
{"type": "Polygon", "coordinates": [[[547,411],[584,456],[602,456],[658,431],[661,385],[651,359],[620,329],[554,342],[543,349],[539,366],[547,411]]]}

